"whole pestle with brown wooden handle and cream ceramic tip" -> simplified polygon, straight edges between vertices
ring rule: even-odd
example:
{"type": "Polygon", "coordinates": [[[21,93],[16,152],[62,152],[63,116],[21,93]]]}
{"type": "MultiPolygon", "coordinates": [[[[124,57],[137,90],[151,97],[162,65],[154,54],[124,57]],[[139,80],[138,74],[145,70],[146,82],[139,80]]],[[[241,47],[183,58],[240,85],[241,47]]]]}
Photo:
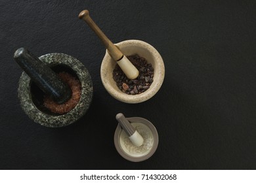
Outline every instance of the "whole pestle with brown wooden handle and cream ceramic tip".
{"type": "Polygon", "coordinates": [[[117,61],[117,64],[122,69],[123,73],[129,79],[135,79],[139,76],[138,69],[127,59],[126,56],[113,44],[113,42],[106,37],[106,35],[100,30],[100,28],[95,24],[95,22],[89,16],[89,10],[83,10],[79,13],[78,16],[80,19],[83,19],[91,29],[96,33],[96,35],[100,38],[103,44],[106,46],[108,53],[110,56],[117,61]]]}

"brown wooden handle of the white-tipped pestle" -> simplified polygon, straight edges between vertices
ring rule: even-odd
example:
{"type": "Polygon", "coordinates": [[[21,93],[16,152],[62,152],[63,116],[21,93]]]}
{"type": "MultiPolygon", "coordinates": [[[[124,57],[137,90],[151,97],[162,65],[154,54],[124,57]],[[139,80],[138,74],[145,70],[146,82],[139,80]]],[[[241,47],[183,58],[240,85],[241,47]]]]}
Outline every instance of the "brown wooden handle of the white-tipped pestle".
{"type": "Polygon", "coordinates": [[[96,35],[100,38],[103,44],[106,46],[108,53],[110,56],[115,60],[118,61],[119,59],[123,58],[122,52],[113,44],[113,42],[106,37],[106,35],[100,30],[98,25],[91,19],[89,16],[89,10],[82,10],[78,16],[80,19],[83,19],[91,29],[96,33],[96,35]]]}

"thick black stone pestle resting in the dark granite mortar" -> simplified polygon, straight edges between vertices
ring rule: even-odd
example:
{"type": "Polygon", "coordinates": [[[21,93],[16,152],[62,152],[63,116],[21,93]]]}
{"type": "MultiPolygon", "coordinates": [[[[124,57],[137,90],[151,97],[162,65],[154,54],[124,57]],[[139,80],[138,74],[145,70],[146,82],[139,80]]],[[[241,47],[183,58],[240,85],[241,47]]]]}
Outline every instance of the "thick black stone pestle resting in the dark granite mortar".
{"type": "Polygon", "coordinates": [[[70,99],[70,86],[26,48],[18,48],[14,53],[14,59],[32,81],[56,103],[62,104],[70,99]]]}

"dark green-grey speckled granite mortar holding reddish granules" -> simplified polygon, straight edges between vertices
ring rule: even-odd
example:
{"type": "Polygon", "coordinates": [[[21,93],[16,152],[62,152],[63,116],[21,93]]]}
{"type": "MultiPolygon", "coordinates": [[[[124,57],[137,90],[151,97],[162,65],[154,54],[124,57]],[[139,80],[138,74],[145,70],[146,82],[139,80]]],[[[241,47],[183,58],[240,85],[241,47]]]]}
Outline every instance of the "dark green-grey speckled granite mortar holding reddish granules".
{"type": "Polygon", "coordinates": [[[93,82],[89,72],[79,60],[66,54],[46,54],[39,59],[50,67],[62,65],[72,69],[81,82],[81,98],[75,108],[66,114],[51,114],[51,112],[42,110],[34,102],[33,98],[35,97],[32,96],[31,92],[32,80],[23,72],[18,86],[18,98],[22,109],[34,122],[46,127],[63,127],[74,123],[87,112],[93,98],[93,82]]]}

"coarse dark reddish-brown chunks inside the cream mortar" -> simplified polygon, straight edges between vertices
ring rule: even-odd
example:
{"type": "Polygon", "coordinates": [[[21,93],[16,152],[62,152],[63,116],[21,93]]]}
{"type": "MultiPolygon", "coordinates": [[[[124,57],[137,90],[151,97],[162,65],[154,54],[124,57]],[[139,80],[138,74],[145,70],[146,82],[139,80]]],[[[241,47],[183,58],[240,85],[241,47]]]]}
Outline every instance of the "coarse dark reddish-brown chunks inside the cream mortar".
{"type": "Polygon", "coordinates": [[[154,68],[151,63],[147,63],[145,58],[139,55],[127,56],[127,58],[139,70],[139,76],[135,80],[130,80],[125,76],[118,64],[113,71],[113,78],[117,87],[129,95],[140,94],[150,88],[154,77],[154,68]]]}

